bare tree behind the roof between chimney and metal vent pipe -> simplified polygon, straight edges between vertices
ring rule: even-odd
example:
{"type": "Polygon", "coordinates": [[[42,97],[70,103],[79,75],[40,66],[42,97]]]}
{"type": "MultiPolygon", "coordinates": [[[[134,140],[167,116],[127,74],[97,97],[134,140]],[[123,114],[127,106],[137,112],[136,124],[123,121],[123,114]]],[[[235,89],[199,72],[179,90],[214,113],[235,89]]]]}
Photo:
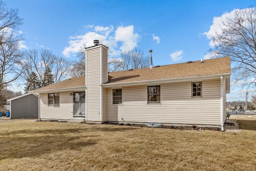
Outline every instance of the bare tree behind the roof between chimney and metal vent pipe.
{"type": "Polygon", "coordinates": [[[150,58],[145,56],[143,51],[135,48],[130,51],[120,52],[120,57],[109,61],[109,65],[110,67],[112,66],[114,71],[146,68],[150,66],[150,58]]]}

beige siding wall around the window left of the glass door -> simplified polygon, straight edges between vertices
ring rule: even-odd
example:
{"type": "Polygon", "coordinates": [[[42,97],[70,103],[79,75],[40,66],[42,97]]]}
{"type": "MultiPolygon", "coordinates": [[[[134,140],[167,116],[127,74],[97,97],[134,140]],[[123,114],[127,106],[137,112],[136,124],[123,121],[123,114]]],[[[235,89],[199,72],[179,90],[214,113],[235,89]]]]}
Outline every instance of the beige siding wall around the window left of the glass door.
{"type": "Polygon", "coordinates": [[[48,106],[48,93],[40,93],[40,119],[70,120],[72,117],[73,96],[70,92],[60,92],[60,106],[48,106]]]}

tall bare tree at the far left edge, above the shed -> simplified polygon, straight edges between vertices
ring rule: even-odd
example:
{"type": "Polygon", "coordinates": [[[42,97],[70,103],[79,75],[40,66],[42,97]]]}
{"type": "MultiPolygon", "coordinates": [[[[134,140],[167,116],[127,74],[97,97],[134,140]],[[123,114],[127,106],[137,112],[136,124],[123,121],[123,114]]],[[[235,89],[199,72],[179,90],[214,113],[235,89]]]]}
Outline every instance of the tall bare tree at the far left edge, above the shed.
{"type": "Polygon", "coordinates": [[[18,9],[8,9],[0,0],[0,96],[2,90],[23,72],[20,65],[23,53],[19,48],[22,35],[17,33],[23,19],[18,13],[18,9]]]}

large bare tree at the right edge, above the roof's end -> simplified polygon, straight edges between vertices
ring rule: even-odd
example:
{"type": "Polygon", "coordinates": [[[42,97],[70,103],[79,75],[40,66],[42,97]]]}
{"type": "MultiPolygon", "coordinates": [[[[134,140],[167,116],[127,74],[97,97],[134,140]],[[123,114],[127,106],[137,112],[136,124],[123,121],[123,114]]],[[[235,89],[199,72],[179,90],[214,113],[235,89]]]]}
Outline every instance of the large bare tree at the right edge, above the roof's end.
{"type": "Polygon", "coordinates": [[[230,56],[235,81],[244,81],[247,89],[256,86],[256,8],[237,10],[234,18],[222,24],[222,32],[212,37],[210,52],[216,57],[230,56]]]}

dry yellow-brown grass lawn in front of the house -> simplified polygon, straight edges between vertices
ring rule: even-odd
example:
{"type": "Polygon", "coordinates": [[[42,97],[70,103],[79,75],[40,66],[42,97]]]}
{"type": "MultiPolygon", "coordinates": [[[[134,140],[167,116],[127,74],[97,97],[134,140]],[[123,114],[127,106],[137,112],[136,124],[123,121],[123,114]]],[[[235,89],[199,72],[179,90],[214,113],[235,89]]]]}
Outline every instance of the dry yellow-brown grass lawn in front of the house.
{"type": "Polygon", "coordinates": [[[256,118],[235,119],[242,132],[0,120],[0,171],[255,171],[256,118]]]}

